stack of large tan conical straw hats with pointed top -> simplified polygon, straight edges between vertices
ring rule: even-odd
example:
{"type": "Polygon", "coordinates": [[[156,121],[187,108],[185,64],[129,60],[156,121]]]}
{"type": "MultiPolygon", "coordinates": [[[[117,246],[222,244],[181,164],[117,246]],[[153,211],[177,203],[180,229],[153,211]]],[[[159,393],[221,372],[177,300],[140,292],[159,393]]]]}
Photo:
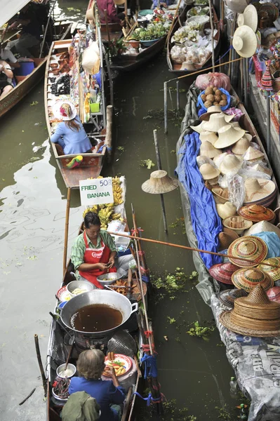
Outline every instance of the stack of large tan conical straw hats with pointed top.
{"type": "Polygon", "coordinates": [[[248,297],[236,298],[234,309],[222,312],[220,323],[244,336],[272,337],[280,334],[280,305],[267,298],[261,285],[255,286],[248,297]]]}

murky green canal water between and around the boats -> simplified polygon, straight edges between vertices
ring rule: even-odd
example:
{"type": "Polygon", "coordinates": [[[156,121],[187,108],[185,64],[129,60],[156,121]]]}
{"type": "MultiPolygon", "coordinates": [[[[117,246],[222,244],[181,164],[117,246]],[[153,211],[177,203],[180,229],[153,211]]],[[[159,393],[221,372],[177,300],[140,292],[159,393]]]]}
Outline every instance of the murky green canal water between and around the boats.
{"type": "MultiPolygon", "coordinates": [[[[81,20],[85,6],[86,1],[60,1],[56,13],[76,13],[81,20]],[[79,12],[72,8],[79,8],[79,12]]],[[[137,72],[114,80],[115,153],[112,164],[103,168],[102,175],[126,176],[130,227],[133,203],[138,227],[144,229],[143,236],[187,245],[179,190],[164,196],[168,234],[164,233],[159,196],[141,190],[142,182],[151,172],[141,166],[142,160],[151,159],[156,164],[155,128],[162,168],[173,176],[176,167],[180,119],[171,114],[168,135],[164,135],[163,130],[163,83],[170,78],[165,57],[159,55],[137,72]]],[[[182,91],[186,88],[187,84],[180,86],[182,91]]],[[[45,361],[48,312],[53,311],[55,293],[62,280],[67,191],[47,140],[43,91],[40,83],[1,119],[0,125],[1,420],[38,421],[44,420],[46,413],[34,334],[39,335],[45,361]],[[32,397],[19,406],[35,387],[32,397]]],[[[180,102],[183,108],[184,92],[180,94],[180,102]]],[[[79,194],[74,192],[69,218],[69,252],[82,212],[79,194]]],[[[185,250],[145,244],[145,252],[155,276],[161,275],[164,279],[165,274],[174,273],[176,267],[187,275],[194,271],[192,253],[185,250]]],[[[149,316],[154,326],[161,392],[168,401],[175,399],[176,408],[175,413],[166,413],[164,419],[213,421],[222,415],[223,420],[234,420],[234,406],[238,401],[229,396],[232,370],[218,331],[214,330],[207,341],[187,333],[194,321],[199,321],[200,326],[213,324],[211,309],[201,300],[194,280],[188,280],[185,291],[175,298],[170,294],[160,298],[158,294],[151,296],[149,316]],[[232,411],[234,417],[229,418],[227,410],[232,411]]],[[[173,407],[169,409],[172,412],[173,407]]],[[[147,413],[137,417],[141,421],[148,418],[147,413]]]]}

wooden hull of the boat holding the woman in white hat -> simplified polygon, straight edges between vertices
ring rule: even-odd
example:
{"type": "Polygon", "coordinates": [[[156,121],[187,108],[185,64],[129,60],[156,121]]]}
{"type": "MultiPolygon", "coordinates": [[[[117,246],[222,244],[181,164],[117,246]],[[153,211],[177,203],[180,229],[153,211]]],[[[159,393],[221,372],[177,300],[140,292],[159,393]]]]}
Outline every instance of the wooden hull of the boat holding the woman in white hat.
{"type": "MultiPolygon", "coordinates": [[[[46,65],[46,74],[45,74],[45,111],[46,111],[46,123],[48,127],[48,134],[51,136],[52,131],[52,122],[51,122],[51,106],[53,105],[55,99],[59,97],[54,97],[49,91],[50,77],[53,76],[52,62],[54,58],[57,58],[57,55],[61,53],[67,53],[69,47],[72,46],[72,40],[64,41],[55,41],[52,46],[50,53],[48,55],[47,65],[46,65]]],[[[105,95],[105,68],[103,67],[102,60],[102,43],[100,42],[100,62],[101,62],[101,77],[102,77],[102,99],[100,105],[100,111],[91,113],[90,121],[86,122],[84,114],[84,85],[83,80],[79,74],[79,57],[76,58],[74,65],[72,67],[72,79],[77,78],[76,82],[78,83],[79,89],[74,94],[74,100],[79,100],[79,116],[81,122],[84,123],[84,128],[88,133],[88,138],[91,140],[92,148],[91,153],[81,154],[83,156],[83,161],[76,168],[69,169],[67,164],[76,156],[75,155],[65,155],[62,151],[62,148],[58,144],[51,143],[53,149],[53,154],[55,160],[62,174],[62,178],[65,181],[66,187],[70,188],[79,188],[79,180],[86,180],[87,178],[97,178],[100,175],[102,170],[102,165],[104,163],[105,154],[106,154],[106,95],[105,95]],[[75,72],[73,72],[75,69],[75,72]]],[[[65,95],[63,96],[65,98],[65,95]]]]}

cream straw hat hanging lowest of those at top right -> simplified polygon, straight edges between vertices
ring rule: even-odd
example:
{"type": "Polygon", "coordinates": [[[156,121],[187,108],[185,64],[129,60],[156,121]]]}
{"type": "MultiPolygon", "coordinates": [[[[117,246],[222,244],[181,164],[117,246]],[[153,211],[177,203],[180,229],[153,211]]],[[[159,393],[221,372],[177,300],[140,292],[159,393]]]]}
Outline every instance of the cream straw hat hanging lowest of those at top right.
{"type": "Polygon", "coordinates": [[[232,39],[232,46],[241,57],[248,58],[254,55],[257,49],[257,39],[253,29],[247,25],[237,28],[232,39]]]}

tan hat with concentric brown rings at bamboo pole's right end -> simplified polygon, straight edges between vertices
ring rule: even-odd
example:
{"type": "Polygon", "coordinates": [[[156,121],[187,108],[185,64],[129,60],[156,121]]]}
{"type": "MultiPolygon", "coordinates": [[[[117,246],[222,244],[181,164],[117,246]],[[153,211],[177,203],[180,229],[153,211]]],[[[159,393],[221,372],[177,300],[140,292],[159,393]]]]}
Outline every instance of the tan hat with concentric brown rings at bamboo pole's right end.
{"type": "Polygon", "coordinates": [[[243,236],[229,246],[227,253],[234,256],[234,258],[229,258],[229,261],[234,265],[254,267],[267,257],[267,243],[257,236],[243,236]],[[253,262],[239,260],[238,258],[253,260],[253,262]]]}

